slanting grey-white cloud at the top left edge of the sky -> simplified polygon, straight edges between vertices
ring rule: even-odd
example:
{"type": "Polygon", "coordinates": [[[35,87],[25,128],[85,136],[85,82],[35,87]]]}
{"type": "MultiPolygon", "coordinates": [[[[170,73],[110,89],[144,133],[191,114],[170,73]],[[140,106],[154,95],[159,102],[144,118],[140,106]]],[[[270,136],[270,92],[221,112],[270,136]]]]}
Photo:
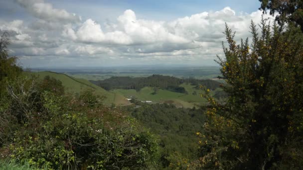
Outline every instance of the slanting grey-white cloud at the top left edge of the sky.
{"type": "Polygon", "coordinates": [[[69,13],[65,9],[54,8],[51,3],[44,0],[15,0],[33,16],[45,21],[77,22],[81,20],[75,13],[69,13]]]}

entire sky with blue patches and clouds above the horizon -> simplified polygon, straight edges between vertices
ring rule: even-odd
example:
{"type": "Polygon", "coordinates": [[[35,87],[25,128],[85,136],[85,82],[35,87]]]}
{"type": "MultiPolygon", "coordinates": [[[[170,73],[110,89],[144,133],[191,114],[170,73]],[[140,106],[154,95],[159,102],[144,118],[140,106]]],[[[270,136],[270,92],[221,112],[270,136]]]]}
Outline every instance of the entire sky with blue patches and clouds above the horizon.
{"type": "MultiPolygon", "coordinates": [[[[251,38],[259,0],[0,0],[0,33],[25,68],[214,66],[225,23],[251,38]]],[[[273,20],[266,14],[265,18],[273,20]]]]}

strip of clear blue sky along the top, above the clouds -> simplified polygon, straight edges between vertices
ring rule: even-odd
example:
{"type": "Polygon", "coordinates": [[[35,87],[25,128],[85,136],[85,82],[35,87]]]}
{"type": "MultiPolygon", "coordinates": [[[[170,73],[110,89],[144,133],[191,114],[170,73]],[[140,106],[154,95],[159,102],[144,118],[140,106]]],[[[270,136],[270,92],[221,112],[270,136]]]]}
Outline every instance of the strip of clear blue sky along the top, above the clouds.
{"type": "Polygon", "coordinates": [[[100,18],[96,20],[100,21],[110,16],[119,16],[126,9],[132,9],[139,17],[146,19],[169,21],[202,11],[218,11],[226,6],[247,13],[260,7],[258,0],[52,0],[52,3],[56,7],[64,5],[69,11],[81,13],[81,16],[87,18],[99,15],[100,18]],[[95,10],[89,10],[90,8],[95,10]]]}

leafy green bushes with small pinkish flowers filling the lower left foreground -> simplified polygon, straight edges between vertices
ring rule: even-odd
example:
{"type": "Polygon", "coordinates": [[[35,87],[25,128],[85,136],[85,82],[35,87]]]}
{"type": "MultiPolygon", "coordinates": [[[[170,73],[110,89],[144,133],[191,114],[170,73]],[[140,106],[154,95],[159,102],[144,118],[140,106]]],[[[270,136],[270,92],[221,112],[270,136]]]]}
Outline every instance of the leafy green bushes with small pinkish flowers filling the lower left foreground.
{"type": "Polygon", "coordinates": [[[60,82],[19,77],[0,110],[4,158],[52,169],[148,169],[156,139],[119,108],[102,104],[91,90],[62,95],[60,82]]]}

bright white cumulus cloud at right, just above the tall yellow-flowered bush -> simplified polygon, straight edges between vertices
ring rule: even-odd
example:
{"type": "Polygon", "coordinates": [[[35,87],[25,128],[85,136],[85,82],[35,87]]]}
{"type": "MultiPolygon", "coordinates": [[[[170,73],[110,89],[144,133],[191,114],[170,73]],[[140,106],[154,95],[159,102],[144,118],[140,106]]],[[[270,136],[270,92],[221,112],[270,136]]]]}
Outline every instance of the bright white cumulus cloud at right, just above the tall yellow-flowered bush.
{"type": "MultiPolygon", "coordinates": [[[[258,21],[262,12],[236,15],[230,7],[216,12],[202,12],[178,18],[167,25],[176,35],[202,42],[221,42],[225,23],[237,32],[238,36],[249,36],[250,21],[258,21]]],[[[268,16],[269,17],[269,16],[268,16]]],[[[245,37],[243,37],[245,38],[245,37]]]]}

